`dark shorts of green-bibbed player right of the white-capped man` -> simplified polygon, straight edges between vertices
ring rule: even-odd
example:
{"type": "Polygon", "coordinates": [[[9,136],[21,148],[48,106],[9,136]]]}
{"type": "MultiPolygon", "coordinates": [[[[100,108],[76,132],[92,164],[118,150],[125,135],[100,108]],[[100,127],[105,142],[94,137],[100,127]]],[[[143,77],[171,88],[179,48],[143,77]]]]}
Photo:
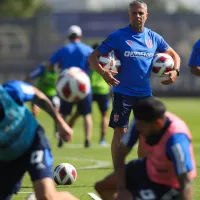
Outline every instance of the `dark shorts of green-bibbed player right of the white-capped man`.
{"type": "Polygon", "coordinates": [[[101,113],[104,113],[109,108],[109,100],[110,100],[110,94],[93,94],[93,101],[96,101],[101,113]]]}

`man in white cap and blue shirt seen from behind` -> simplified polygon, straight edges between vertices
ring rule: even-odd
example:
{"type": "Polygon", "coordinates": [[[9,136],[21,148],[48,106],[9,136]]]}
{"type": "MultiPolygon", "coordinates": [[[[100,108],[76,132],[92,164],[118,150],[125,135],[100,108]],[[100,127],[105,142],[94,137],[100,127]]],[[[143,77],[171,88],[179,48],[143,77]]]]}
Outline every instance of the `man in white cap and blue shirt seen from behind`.
{"type": "MultiPolygon", "coordinates": [[[[58,64],[61,70],[70,68],[72,66],[80,67],[87,74],[89,72],[88,56],[93,49],[81,42],[82,30],[79,26],[72,25],[68,30],[69,43],[58,49],[49,59],[46,64],[48,67],[54,67],[58,64]]],[[[67,117],[71,114],[74,103],[67,103],[61,101],[60,113],[67,117]]],[[[86,98],[76,103],[78,112],[84,118],[85,130],[85,147],[90,146],[90,138],[92,134],[92,94],[90,93],[86,98]]],[[[60,146],[62,142],[60,141],[60,146]]]]}

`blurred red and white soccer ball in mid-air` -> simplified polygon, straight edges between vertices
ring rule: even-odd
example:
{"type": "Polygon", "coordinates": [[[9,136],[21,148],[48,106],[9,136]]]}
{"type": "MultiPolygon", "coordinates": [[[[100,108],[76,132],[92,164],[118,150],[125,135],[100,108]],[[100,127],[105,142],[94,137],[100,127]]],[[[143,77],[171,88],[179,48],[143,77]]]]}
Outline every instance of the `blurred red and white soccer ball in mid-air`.
{"type": "Polygon", "coordinates": [[[78,102],[90,92],[90,79],[79,67],[63,70],[58,76],[56,90],[58,96],[67,102],[78,102]]]}

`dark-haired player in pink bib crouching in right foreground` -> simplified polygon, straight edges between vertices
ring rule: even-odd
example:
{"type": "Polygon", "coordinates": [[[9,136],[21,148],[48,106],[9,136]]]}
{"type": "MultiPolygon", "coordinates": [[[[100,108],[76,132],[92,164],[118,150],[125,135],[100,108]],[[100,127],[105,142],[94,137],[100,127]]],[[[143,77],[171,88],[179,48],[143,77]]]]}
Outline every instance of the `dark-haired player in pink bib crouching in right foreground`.
{"type": "Polygon", "coordinates": [[[192,136],[185,122],[155,99],[139,101],[135,122],[122,139],[115,172],[95,187],[103,200],[192,200],[196,177],[192,136]],[[125,164],[138,137],[147,157],[125,164]]]}

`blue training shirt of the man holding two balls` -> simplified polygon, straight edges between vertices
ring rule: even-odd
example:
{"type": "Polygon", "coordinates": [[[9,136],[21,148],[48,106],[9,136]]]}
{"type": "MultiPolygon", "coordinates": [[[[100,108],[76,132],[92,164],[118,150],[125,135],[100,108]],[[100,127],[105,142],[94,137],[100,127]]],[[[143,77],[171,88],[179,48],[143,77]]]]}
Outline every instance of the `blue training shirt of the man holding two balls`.
{"type": "Polygon", "coordinates": [[[150,86],[151,63],[156,52],[169,48],[166,41],[148,28],[134,32],[130,26],[110,34],[98,47],[101,54],[114,50],[121,61],[121,70],[115,76],[120,83],[113,92],[129,96],[152,95],[150,86]]]}

